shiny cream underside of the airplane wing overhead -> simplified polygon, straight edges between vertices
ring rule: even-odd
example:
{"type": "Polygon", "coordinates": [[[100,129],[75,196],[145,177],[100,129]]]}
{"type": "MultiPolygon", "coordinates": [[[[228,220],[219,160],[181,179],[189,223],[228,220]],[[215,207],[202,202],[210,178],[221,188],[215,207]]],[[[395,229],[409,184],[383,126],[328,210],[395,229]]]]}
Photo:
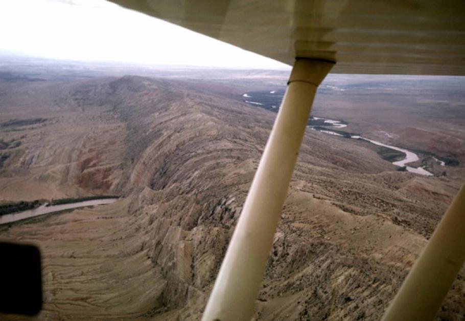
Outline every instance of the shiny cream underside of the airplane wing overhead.
{"type": "Polygon", "coordinates": [[[288,65],[310,57],[337,61],[333,73],[465,75],[463,0],[111,1],[288,65]]]}

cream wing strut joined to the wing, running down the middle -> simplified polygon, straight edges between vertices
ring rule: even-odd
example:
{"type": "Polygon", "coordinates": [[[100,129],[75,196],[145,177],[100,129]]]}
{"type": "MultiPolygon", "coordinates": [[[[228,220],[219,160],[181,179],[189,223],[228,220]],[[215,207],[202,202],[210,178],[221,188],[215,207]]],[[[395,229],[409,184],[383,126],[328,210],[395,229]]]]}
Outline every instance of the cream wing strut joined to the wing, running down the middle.
{"type": "Polygon", "coordinates": [[[250,320],[316,89],[334,62],[296,59],[203,321],[250,320]]]}

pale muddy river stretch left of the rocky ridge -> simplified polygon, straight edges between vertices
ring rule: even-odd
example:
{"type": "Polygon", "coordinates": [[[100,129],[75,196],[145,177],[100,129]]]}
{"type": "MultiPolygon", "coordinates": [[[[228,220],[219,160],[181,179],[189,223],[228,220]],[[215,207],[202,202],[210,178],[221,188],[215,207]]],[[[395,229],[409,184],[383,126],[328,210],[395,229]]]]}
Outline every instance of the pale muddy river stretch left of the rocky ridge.
{"type": "Polygon", "coordinates": [[[116,201],[118,201],[118,199],[111,198],[111,199],[82,201],[82,202],[69,203],[69,204],[50,205],[50,206],[47,206],[48,203],[45,203],[34,209],[28,209],[28,210],[21,211],[21,212],[2,215],[0,216],[0,224],[6,224],[6,223],[11,223],[11,222],[16,222],[19,220],[30,219],[36,216],[49,214],[53,212],[59,212],[61,210],[66,210],[66,209],[95,206],[95,205],[104,205],[104,204],[110,204],[116,201]]]}

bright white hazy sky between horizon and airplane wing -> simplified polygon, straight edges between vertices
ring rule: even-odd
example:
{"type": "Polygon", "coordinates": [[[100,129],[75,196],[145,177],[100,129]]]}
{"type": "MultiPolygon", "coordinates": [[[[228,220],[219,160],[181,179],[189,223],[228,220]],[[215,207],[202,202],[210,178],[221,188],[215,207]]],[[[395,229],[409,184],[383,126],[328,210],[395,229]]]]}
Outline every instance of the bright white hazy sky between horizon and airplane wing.
{"type": "Polygon", "coordinates": [[[0,0],[0,52],[150,65],[287,68],[104,0],[0,0]]]}

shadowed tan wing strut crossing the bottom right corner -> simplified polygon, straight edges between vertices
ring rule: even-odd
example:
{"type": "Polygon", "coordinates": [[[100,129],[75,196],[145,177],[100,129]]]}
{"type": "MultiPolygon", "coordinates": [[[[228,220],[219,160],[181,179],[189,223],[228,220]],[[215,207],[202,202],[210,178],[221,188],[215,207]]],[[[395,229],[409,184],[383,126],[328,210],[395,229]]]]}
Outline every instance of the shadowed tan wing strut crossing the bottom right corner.
{"type": "Polygon", "coordinates": [[[407,275],[382,321],[432,320],[465,261],[465,185],[407,275]]]}

